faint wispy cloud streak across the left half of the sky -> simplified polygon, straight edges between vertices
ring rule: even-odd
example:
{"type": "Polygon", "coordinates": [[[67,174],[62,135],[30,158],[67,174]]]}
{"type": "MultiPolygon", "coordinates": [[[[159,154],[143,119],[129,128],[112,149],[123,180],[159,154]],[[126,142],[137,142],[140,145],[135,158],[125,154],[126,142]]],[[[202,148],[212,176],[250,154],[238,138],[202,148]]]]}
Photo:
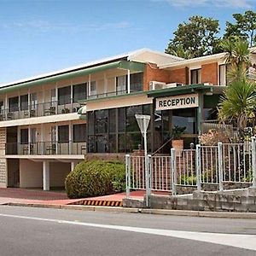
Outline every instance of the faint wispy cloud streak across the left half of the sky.
{"type": "Polygon", "coordinates": [[[8,24],[0,25],[3,29],[20,29],[38,32],[100,32],[115,31],[129,28],[130,24],[126,21],[91,23],[91,24],[72,24],[67,22],[51,23],[48,20],[22,20],[13,21],[8,24]]]}

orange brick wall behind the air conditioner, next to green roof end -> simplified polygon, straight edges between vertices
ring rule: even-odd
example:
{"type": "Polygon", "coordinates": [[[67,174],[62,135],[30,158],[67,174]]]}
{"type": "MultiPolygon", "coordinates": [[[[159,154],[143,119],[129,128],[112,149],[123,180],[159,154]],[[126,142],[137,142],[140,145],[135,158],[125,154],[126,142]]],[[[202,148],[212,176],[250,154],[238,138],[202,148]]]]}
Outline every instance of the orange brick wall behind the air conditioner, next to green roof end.
{"type": "Polygon", "coordinates": [[[169,72],[159,69],[155,64],[148,63],[144,70],[143,90],[149,90],[150,81],[170,83],[169,72]]]}

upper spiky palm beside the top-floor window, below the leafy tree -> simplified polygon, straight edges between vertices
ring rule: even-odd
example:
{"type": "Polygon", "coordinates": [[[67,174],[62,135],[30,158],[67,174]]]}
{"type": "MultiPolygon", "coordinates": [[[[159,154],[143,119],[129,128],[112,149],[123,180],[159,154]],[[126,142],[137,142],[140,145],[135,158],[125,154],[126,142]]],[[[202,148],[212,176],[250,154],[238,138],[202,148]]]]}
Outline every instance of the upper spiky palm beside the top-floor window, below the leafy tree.
{"type": "Polygon", "coordinates": [[[246,78],[250,64],[250,49],[247,41],[237,37],[227,38],[222,41],[220,47],[226,52],[225,62],[230,67],[228,72],[230,82],[246,78]]]}

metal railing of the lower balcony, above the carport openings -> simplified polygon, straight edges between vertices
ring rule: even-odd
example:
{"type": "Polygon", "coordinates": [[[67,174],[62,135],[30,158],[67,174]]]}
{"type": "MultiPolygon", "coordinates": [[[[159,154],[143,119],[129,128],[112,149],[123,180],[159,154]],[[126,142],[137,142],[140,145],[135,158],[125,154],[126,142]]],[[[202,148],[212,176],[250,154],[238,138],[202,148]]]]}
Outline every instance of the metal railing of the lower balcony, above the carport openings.
{"type": "Polygon", "coordinates": [[[6,143],[5,154],[50,155],[50,154],[86,154],[86,143],[38,142],[6,143]]]}

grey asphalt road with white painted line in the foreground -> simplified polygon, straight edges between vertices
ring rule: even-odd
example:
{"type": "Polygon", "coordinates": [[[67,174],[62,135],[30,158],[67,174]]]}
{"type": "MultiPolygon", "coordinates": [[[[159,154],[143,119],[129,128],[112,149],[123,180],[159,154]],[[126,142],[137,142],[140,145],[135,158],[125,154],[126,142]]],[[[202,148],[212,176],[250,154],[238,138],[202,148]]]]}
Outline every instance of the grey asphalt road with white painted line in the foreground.
{"type": "Polygon", "coordinates": [[[256,221],[1,206],[0,255],[256,255],[256,221]]]}

